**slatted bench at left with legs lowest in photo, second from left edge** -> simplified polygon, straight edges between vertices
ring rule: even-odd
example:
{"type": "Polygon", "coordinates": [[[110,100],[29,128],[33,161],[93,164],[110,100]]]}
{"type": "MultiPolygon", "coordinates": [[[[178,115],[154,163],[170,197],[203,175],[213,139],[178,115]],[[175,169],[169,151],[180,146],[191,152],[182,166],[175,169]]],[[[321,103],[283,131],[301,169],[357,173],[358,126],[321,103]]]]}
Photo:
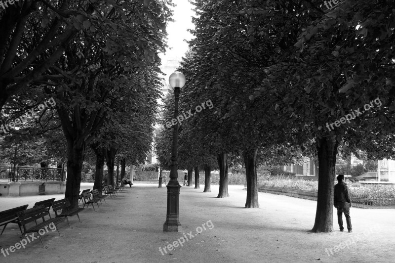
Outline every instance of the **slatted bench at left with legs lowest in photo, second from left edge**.
{"type": "Polygon", "coordinates": [[[56,230],[58,230],[58,233],[60,235],[59,228],[58,228],[57,224],[59,224],[61,221],[63,221],[64,218],[51,218],[51,219],[45,220],[44,217],[48,215],[48,211],[43,205],[31,208],[31,209],[26,209],[24,211],[17,212],[16,214],[18,216],[19,224],[23,226],[22,235],[24,235],[26,233],[37,232],[37,234],[40,238],[42,247],[44,247],[44,243],[42,242],[42,239],[41,239],[41,235],[39,232],[40,230],[43,230],[43,228],[45,228],[46,232],[48,232],[48,225],[53,223],[55,225],[56,230]],[[40,219],[40,218],[42,218],[42,223],[37,224],[37,219],[40,219]],[[36,225],[28,228],[26,225],[28,223],[33,222],[33,221],[36,222],[36,225]]]}

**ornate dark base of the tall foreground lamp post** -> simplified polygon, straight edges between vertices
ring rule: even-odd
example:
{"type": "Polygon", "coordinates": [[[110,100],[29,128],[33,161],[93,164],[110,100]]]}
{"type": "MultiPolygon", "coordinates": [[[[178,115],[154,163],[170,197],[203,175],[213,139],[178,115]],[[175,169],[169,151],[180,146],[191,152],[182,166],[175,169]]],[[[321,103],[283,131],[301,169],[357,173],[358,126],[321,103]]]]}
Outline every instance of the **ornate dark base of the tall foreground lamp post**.
{"type": "Polygon", "coordinates": [[[181,185],[177,180],[170,180],[167,187],[167,213],[163,224],[164,232],[181,232],[181,223],[178,215],[180,204],[181,185]]]}

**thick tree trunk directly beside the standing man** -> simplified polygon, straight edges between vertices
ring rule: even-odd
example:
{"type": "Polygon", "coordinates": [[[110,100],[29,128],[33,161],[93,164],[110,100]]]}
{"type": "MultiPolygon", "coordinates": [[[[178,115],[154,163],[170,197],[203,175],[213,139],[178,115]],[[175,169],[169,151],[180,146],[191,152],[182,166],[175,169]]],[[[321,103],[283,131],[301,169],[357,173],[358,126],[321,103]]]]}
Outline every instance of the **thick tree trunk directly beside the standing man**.
{"type": "Polygon", "coordinates": [[[318,153],[318,194],[316,220],[312,232],[333,232],[333,193],[335,184],[336,138],[316,138],[318,153]]]}

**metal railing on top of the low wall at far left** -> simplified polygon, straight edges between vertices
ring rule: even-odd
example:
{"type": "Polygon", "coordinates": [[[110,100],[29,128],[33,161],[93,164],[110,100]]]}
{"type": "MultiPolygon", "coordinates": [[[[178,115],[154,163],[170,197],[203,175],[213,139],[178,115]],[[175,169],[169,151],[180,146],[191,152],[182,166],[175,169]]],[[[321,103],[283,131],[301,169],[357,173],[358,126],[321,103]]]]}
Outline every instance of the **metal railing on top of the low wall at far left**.
{"type": "Polygon", "coordinates": [[[12,181],[64,181],[63,168],[40,168],[18,166],[0,166],[0,180],[12,181]]]}

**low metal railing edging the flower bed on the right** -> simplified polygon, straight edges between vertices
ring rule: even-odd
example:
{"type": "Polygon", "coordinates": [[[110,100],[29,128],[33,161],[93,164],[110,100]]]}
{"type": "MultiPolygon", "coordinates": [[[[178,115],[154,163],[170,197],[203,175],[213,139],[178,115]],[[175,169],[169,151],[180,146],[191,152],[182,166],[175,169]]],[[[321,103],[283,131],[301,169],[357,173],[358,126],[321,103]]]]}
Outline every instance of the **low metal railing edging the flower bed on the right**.
{"type": "MultiPolygon", "coordinates": [[[[247,186],[244,185],[244,188],[247,188],[247,186]]],[[[316,191],[302,191],[266,186],[258,186],[258,191],[317,201],[316,191]]],[[[395,198],[372,199],[368,198],[366,195],[352,195],[351,205],[359,208],[395,208],[395,198]]]]}

